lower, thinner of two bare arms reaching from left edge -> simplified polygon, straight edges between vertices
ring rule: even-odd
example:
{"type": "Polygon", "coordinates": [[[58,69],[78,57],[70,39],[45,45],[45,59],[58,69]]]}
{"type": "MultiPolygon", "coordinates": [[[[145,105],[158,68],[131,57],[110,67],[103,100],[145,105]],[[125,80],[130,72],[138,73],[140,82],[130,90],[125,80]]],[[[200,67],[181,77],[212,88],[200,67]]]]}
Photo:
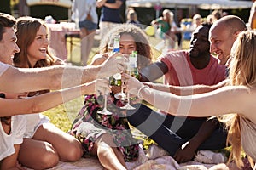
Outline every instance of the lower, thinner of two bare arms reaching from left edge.
{"type": "Polygon", "coordinates": [[[61,105],[84,94],[97,94],[98,91],[110,91],[108,80],[96,80],[83,85],[41,94],[28,99],[0,98],[0,116],[38,113],[61,105]]]}

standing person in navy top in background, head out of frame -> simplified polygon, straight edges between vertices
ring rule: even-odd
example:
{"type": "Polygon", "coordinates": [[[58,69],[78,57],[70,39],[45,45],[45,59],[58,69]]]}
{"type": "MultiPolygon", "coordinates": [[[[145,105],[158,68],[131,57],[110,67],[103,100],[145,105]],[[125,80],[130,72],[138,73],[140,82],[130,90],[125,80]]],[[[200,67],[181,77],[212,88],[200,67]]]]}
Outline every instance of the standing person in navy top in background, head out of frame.
{"type": "Polygon", "coordinates": [[[112,29],[113,26],[117,26],[122,23],[120,8],[125,0],[99,0],[96,3],[98,8],[102,8],[100,18],[100,31],[101,37],[106,31],[112,29]]]}

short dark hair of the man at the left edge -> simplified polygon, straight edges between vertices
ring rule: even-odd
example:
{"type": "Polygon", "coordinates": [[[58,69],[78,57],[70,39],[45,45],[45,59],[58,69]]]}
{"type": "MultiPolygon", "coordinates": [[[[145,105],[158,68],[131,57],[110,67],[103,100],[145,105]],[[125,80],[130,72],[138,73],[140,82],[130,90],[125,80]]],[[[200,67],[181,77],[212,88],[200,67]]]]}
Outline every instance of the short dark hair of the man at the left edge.
{"type": "Polygon", "coordinates": [[[15,26],[16,26],[15,17],[13,17],[10,14],[0,13],[0,41],[2,41],[5,27],[11,28],[15,26]]]}

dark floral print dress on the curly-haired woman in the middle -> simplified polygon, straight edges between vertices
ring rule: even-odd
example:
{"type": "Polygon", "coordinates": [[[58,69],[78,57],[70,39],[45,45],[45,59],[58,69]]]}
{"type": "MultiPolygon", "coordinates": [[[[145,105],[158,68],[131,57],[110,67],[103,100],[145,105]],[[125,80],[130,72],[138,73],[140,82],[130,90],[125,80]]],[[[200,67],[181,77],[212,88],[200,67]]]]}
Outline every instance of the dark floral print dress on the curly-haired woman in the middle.
{"type": "Polygon", "coordinates": [[[82,144],[84,157],[90,156],[90,150],[102,133],[113,136],[113,142],[118,146],[125,161],[136,161],[138,157],[138,142],[132,138],[131,129],[125,118],[125,111],[120,107],[125,105],[124,101],[115,99],[113,94],[108,95],[108,111],[112,115],[102,115],[97,111],[102,110],[103,96],[86,95],[84,107],[79,111],[73,121],[71,134],[82,144]]]}

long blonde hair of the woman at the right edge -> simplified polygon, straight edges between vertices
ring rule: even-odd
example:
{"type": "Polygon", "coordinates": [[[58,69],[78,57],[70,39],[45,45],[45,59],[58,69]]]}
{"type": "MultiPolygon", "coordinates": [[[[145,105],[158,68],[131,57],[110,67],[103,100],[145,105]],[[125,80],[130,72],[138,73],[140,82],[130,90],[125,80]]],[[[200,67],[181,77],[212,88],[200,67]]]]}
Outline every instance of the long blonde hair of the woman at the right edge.
{"type": "MultiPolygon", "coordinates": [[[[248,87],[256,86],[256,32],[242,31],[231,49],[230,85],[248,87]]],[[[241,127],[238,114],[224,116],[224,122],[229,128],[228,139],[232,145],[231,157],[236,165],[241,167],[241,127]],[[228,117],[228,118],[227,118],[228,117]]]]}

